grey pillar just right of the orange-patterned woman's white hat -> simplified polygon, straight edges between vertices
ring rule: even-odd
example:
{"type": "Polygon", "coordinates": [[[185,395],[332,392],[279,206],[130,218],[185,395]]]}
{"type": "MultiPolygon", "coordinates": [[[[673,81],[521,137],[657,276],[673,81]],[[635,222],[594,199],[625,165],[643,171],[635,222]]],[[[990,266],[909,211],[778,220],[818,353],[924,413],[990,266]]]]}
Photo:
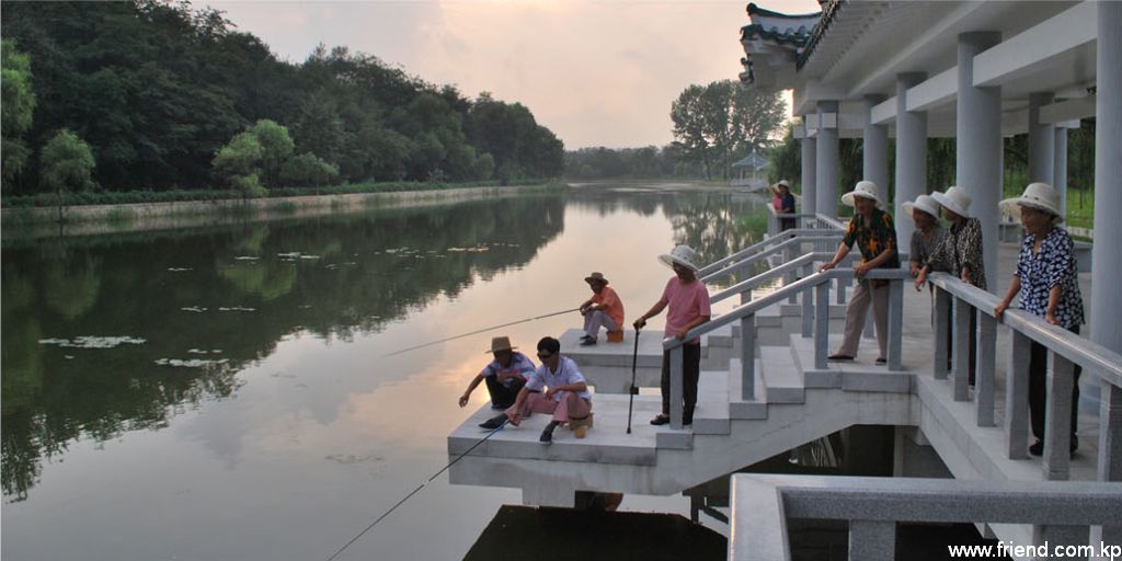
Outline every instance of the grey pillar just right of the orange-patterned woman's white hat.
{"type": "Polygon", "coordinates": [[[903,214],[903,203],[927,193],[927,112],[908,111],[908,89],[927,79],[927,74],[896,75],[896,196],[892,210],[896,221],[896,240],[907,247],[916,226],[903,214]]]}

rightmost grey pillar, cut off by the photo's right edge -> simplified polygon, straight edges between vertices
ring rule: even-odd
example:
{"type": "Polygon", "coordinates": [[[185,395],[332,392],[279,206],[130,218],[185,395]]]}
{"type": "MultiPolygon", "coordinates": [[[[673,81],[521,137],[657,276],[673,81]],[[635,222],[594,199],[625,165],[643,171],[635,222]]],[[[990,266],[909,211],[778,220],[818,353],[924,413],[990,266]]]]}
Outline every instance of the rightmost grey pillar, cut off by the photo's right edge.
{"type": "Polygon", "coordinates": [[[1091,250],[1091,339],[1122,352],[1122,2],[1097,2],[1095,96],[1095,242],[1091,250]],[[1114,92],[1113,94],[1111,92],[1114,92]]]}

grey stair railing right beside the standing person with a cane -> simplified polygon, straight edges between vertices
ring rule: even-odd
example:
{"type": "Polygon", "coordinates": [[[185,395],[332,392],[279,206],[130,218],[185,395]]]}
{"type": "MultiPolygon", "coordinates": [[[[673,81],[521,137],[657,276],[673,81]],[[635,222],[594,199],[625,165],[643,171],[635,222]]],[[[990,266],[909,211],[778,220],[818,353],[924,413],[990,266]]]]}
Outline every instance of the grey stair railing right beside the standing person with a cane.
{"type": "MultiPolygon", "coordinates": [[[[800,264],[806,266],[806,264],[800,264]]],[[[813,257],[810,266],[813,267],[813,257]]],[[[826,369],[826,358],[829,346],[829,291],[830,280],[854,277],[853,269],[835,268],[826,273],[812,273],[783,288],[754,298],[735,307],[709,322],[702,323],[686,332],[683,339],[666,338],[662,347],[670,352],[670,427],[682,429],[682,343],[710,333],[725,325],[739,322],[741,325],[741,398],[755,399],[755,314],[772,304],[782,302],[791,295],[803,293],[802,328],[803,337],[813,337],[815,368],[826,369]],[[813,291],[815,297],[809,297],[813,291]],[[811,304],[813,302],[813,304],[811,304]]],[[[889,293],[889,329],[888,329],[888,362],[891,370],[899,370],[901,362],[901,328],[903,316],[903,282],[911,275],[903,269],[873,269],[865,275],[870,279],[888,279],[889,293]]]]}

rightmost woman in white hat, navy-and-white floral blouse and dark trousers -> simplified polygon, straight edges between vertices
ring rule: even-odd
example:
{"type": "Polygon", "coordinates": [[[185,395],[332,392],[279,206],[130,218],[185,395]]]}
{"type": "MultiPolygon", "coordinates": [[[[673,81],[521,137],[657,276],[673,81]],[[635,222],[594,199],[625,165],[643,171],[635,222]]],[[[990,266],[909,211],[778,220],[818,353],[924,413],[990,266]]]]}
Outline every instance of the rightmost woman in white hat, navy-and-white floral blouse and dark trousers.
{"type": "MultiPolygon", "coordinates": [[[[1052,325],[1073,333],[1079,332],[1084,322],[1083,296],[1079,294],[1078,267],[1075,263],[1072,238],[1057,224],[1064,221],[1059,211],[1059,193],[1047,183],[1032,183],[1021,196],[1001,202],[1006,210],[1020,208],[1024,237],[1021,252],[1004,300],[993,313],[1001,321],[1013,297],[1020,295],[1021,307],[1041,316],[1052,325]]],[[[1029,416],[1032,435],[1037,441],[1029,453],[1043,453],[1045,407],[1047,399],[1048,349],[1033,342],[1029,355],[1029,416]]],[[[1075,436],[1079,403],[1079,374],[1075,367],[1072,386],[1072,442],[1074,453],[1079,445],[1075,436]]]]}

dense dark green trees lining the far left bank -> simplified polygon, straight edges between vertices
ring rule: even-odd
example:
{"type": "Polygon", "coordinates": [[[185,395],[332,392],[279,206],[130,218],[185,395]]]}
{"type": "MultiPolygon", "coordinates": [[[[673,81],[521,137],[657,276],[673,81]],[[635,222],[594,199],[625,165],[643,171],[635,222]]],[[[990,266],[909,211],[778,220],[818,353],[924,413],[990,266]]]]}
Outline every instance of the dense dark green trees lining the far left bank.
{"type": "Polygon", "coordinates": [[[521,103],[347,47],[280,61],[212,8],[3,2],[0,17],[4,194],[508,182],[564,166],[521,103]]]}

